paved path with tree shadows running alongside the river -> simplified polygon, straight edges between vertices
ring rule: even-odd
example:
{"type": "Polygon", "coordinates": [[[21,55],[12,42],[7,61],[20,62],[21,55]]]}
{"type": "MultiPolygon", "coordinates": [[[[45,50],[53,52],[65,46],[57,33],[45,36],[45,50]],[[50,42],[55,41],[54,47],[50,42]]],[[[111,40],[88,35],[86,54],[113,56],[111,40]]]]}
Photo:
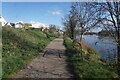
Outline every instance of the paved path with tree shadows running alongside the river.
{"type": "Polygon", "coordinates": [[[17,72],[14,78],[72,78],[66,59],[63,37],[61,36],[50,42],[44,51],[33,59],[26,68],[17,72]]]}

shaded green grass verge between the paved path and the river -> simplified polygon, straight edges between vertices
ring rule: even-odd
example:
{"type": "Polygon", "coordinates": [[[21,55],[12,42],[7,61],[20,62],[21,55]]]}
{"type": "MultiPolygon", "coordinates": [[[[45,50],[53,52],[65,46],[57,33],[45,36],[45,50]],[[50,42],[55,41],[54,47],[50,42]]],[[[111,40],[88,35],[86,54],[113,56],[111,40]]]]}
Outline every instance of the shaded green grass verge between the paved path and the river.
{"type": "Polygon", "coordinates": [[[81,52],[81,49],[74,50],[72,42],[64,37],[69,66],[76,78],[118,78],[117,71],[103,64],[92,49],[82,50],[83,59],[78,56],[76,52],[81,52]]]}

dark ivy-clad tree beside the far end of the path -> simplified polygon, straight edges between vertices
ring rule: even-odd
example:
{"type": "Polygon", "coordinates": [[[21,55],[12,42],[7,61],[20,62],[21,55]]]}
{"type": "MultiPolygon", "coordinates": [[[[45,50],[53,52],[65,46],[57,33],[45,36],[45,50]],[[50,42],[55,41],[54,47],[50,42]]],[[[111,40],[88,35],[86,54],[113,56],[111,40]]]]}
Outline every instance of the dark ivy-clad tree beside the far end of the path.
{"type": "Polygon", "coordinates": [[[71,6],[69,14],[63,18],[63,25],[66,27],[66,33],[71,39],[75,38],[75,28],[76,28],[76,7],[71,6]]]}

